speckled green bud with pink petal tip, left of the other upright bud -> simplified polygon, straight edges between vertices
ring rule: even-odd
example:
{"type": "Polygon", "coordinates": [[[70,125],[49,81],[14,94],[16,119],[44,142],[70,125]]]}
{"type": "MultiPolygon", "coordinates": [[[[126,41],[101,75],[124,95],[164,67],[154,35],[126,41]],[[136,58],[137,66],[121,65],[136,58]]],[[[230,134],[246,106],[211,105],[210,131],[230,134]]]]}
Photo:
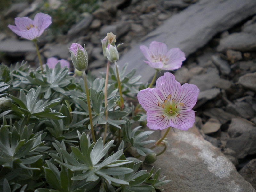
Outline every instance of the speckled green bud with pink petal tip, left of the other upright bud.
{"type": "Polygon", "coordinates": [[[88,66],[88,54],[85,50],[85,45],[83,48],[78,43],[72,43],[69,52],[71,53],[71,60],[74,67],[79,71],[85,70],[88,66]]]}

